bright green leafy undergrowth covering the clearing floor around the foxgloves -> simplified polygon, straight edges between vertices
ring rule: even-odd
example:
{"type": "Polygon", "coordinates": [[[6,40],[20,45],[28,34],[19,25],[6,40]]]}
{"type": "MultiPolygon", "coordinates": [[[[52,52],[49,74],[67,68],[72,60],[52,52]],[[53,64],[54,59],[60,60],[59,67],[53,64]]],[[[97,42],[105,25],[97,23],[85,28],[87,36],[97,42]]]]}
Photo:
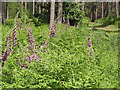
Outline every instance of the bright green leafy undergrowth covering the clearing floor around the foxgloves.
{"type": "MultiPolygon", "coordinates": [[[[26,25],[27,26],[27,25],[26,25]]],[[[27,27],[20,31],[20,47],[14,48],[6,61],[2,62],[2,88],[117,88],[118,87],[118,43],[117,36],[102,31],[92,31],[89,27],[57,25],[56,36],[49,37],[49,25],[33,30],[41,61],[28,63],[28,68],[20,68],[16,60],[25,58],[25,46],[29,46],[27,27]],[[88,33],[91,33],[93,55],[90,56],[88,33]],[[47,40],[47,47],[43,44],[47,40]],[[19,49],[20,48],[20,49],[19,49]],[[20,51],[19,51],[20,50],[20,51]]],[[[2,26],[3,53],[5,39],[10,30],[2,26]]],[[[27,62],[25,62],[27,63],[27,62]]]]}

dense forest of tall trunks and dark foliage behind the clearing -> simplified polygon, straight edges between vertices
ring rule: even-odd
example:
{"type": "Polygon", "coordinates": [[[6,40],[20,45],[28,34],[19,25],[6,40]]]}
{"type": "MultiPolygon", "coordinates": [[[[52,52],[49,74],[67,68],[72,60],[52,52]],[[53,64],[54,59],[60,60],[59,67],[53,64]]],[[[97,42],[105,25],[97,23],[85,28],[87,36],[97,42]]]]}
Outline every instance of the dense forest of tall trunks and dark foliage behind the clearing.
{"type": "MultiPolygon", "coordinates": [[[[116,19],[120,14],[119,2],[3,2],[2,20],[19,17],[27,13],[36,25],[41,23],[67,22],[70,25],[82,24],[84,18],[91,22],[100,18],[116,19]],[[50,13],[51,12],[51,13],[50,13]],[[50,17],[51,16],[51,17],[50,17]]],[[[108,21],[108,24],[113,23],[108,21]]]]}

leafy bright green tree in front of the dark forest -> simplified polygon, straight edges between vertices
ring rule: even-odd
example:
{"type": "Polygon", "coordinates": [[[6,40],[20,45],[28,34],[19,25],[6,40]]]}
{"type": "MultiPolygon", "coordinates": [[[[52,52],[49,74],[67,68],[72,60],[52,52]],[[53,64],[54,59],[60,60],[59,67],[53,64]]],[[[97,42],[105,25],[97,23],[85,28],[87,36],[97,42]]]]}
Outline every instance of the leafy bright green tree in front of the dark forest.
{"type": "Polygon", "coordinates": [[[81,9],[82,4],[76,2],[64,3],[64,16],[74,21],[75,24],[78,22],[82,24],[82,20],[85,17],[84,11],[81,9]]]}

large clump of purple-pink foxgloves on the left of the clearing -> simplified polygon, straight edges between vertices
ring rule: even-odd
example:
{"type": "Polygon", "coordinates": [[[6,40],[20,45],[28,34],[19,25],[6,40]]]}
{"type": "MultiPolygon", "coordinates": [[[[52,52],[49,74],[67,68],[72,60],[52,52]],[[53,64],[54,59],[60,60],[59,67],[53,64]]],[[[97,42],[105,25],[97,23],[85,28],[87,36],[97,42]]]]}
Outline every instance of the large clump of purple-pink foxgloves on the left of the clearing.
{"type": "MultiPolygon", "coordinates": [[[[11,56],[11,59],[14,59],[21,68],[28,68],[28,64],[33,60],[41,61],[42,50],[36,45],[30,23],[27,25],[22,21],[18,22],[18,14],[15,17],[13,30],[8,33],[5,46],[6,51],[1,61],[6,61],[11,56]]],[[[47,46],[46,42],[43,48],[45,46],[47,46]]]]}

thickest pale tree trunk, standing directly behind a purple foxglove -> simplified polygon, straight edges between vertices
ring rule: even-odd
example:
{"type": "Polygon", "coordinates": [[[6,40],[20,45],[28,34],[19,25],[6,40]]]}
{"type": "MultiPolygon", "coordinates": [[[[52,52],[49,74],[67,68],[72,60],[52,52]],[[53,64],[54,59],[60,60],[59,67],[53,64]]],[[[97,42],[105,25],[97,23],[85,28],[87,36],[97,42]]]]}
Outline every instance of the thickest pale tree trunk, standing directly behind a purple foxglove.
{"type": "Polygon", "coordinates": [[[51,0],[51,9],[50,9],[50,28],[54,26],[55,18],[55,0],[51,0]]]}

